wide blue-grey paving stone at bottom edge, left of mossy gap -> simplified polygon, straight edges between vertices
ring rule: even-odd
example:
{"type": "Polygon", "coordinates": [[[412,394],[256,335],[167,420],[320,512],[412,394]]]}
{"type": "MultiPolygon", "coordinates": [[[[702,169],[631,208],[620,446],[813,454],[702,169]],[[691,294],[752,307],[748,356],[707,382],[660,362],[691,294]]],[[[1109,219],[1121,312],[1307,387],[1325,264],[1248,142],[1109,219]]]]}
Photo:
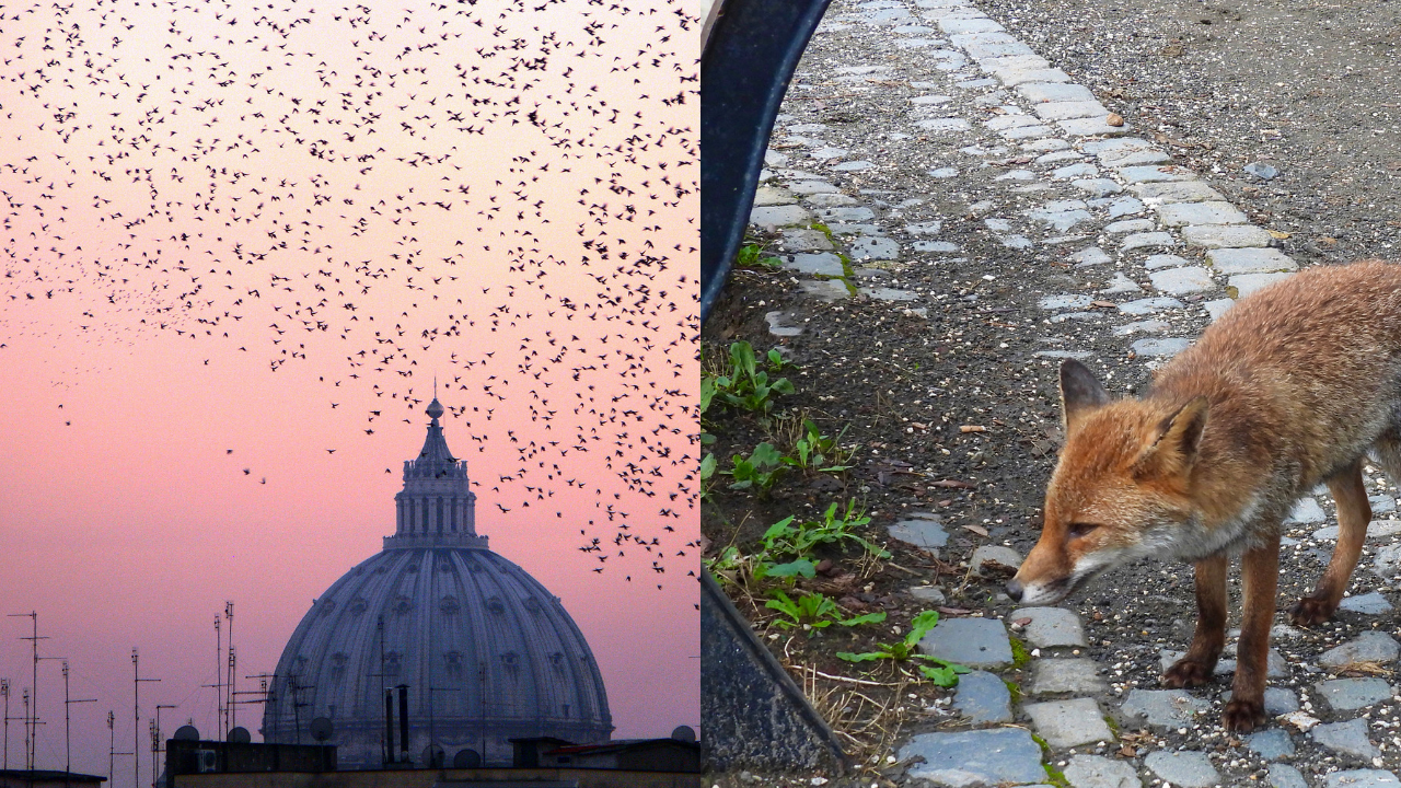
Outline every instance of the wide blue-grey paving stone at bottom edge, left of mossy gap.
{"type": "MultiPolygon", "coordinates": [[[[941,627],[943,624],[940,624],[941,627]]],[[[920,733],[902,746],[899,760],[923,759],[906,774],[934,785],[1017,785],[1045,780],[1041,746],[1021,728],[920,733]]]]}

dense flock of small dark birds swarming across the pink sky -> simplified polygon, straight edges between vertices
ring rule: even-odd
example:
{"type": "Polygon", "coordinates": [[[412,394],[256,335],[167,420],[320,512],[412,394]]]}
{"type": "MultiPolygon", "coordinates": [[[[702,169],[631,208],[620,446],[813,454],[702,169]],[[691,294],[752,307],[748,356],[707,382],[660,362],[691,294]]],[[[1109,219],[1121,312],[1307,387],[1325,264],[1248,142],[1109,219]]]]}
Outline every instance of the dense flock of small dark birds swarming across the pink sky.
{"type": "Polygon", "coordinates": [[[486,501],[591,491],[595,571],[693,575],[695,25],[667,0],[6,4],[0,358],[175,335],[301,365],[331,408],[373,394],[366,437],[422,423],[436,369],[458,440],[514,470],[486,501]]]}

